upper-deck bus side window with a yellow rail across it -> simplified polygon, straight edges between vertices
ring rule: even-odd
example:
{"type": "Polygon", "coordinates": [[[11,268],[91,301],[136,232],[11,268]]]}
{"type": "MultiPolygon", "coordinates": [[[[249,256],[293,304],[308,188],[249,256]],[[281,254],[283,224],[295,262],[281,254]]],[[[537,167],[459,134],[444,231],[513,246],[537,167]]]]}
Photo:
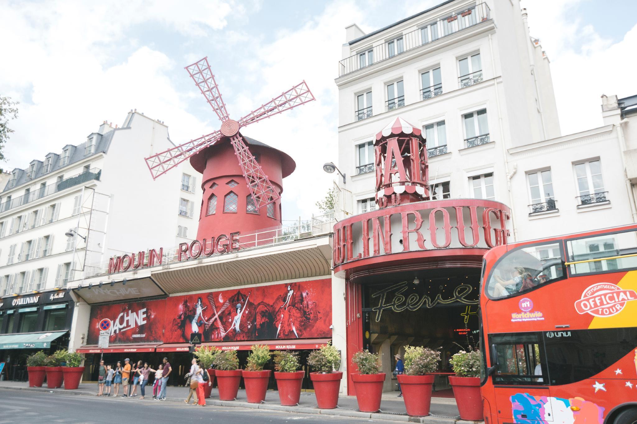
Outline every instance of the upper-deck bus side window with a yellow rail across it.
{"type": "MultiPolygon", "coordinates": [[[[637,253],[637,231],[578,238],[566,242],[568,262],[589,261],[637,253]]],[[[604,273],[637,268],[637,256],[570,264],[571,275],[604,273]]]]}

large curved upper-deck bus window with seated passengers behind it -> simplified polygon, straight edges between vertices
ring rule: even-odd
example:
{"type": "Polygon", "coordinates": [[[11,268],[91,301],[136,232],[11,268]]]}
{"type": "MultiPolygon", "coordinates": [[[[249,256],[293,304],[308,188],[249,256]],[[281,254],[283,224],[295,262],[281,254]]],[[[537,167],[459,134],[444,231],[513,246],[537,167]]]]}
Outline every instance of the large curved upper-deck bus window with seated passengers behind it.
{"type": "Polygon", "coordinates": [[[491,271],[487,294],[492,299],[513,296],[564,277],[561,244],[520,247],[505,254],[491,271]]]}

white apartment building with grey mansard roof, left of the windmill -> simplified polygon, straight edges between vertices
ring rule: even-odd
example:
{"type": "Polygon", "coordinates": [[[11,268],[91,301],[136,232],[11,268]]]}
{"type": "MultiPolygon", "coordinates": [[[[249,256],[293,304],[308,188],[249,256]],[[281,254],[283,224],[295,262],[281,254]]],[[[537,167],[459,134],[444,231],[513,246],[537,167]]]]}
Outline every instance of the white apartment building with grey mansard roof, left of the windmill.
{"type": "Polygon", "coordinates": [[[153,181],[144,161],[171,146],[165,123],[130,111],[122,127],[104,121],[12,170],[0,193],[0,296],[81,284],[111,256],[194,238],[195,170],[186,161],[153,181]]]}

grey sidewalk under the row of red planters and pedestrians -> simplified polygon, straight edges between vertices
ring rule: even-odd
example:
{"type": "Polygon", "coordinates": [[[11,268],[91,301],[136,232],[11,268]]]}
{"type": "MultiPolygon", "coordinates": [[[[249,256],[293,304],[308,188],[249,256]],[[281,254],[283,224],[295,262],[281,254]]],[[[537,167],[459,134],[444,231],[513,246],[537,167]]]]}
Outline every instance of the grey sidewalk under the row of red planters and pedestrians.
{"type": "MultiPolygon", "coordinates": [[[[66,395],[85,395],[95,396],[97,393],[96,383],[82,383],[77,390],[64,390],[64,388],[49,389],[43,387],[29,387],[28,383],[20,383],[17,381],[0,381],[0,390],[31,390],[38,392],[51,392],[51,393],[64,393],[66,395]]],[[[137,390],[137,397],[133,398],[118,398],[122,402],[137,402],[140,397],[140,390],[137,390]]],[[[123,393],[120,390],[120,395],[123,393]]],[[[188,388],[186,387],[174,387],[168,386],[166,388],[166,401],[167,402],[182,402],[188,395],[188,388]]],[[[152,386],[147,386],[146,397],[142,400],[148,402],[156,402],[152,400],[152,386]]],[[[192,401],[191,401],[192,402],[192,401]]],[[[237,400],[233,401],[221,401],[218,400],[218,390],[213,388],[210,398],[206,399],[206,403],[216,406],[237,406],[237,407],[250,407],[259,409],[275,409],[277,411],[290,411],[294,413],[306,413],[306,414],[325,414],[325,415],[338,415],[338,416],[350,416],[357,418],[374,418],[376,420],[389,420],[389,421],[403,421],[403,422],[415,422],[415,423],[427,423],[427,424],[468,424],[473,421],[462,421],[458,418],[458,409],[455,405],[454,399],[445,399],[440,397],[433,397],[431,399],[431,412],[427,417],[410,417],[406,415],[404,409],[403,399],[397,397],[397,392],[385,393],[380,404],[379,413],[363,413],[358,411],[358,405],[355,396],[340,396],[338,400],[337,409],[318,409],[316,407],[316,398],[314,393],[302,392],[301,399],[299,400],[299,406],[281,406],[279,404],[278,392],[275,390],[268,390],[266,394],[266,402],[262,404],[248,404],[245,395],[245,390],[239,390],[237,400]]]]}

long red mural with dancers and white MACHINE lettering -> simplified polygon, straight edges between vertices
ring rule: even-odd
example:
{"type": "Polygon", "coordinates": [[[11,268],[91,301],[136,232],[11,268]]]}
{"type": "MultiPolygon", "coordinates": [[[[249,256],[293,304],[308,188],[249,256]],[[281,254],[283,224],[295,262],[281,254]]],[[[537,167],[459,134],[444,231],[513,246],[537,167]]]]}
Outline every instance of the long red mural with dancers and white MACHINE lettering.
{"type": "Polygon", "coordinates": [[[204,342],[331,337],[331,280],[94,306],[88,343],[97,343],[104,318],[113,322],[111,343],[183,343],[192,332],[204,342]]]}

